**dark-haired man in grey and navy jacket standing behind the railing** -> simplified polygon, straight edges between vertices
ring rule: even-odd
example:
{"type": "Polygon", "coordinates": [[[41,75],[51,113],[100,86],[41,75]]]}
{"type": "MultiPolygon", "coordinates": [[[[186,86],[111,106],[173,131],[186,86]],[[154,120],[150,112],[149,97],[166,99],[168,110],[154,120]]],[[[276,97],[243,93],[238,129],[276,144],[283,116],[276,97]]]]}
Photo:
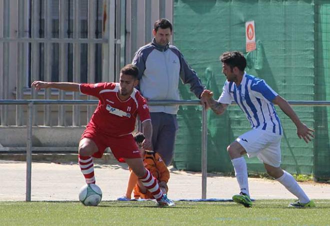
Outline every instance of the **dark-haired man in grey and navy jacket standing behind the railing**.
{"type": "MultiPolygon", "coordinates": [[[[200,94],[204,90],[196,72],[188,65],[183,55],[173,45],[169,45],[172,24],[168,19],[159,19],[154,23],[153,39],[140,47],[132,60],[139,69],[139,87],[148,100],[178,100],[178,81],[190,84],[190,91],[206,107],[200,94]]],[[[174,141],[177,131],[177,105],[149,106],[152,123],[153,150],[158,152],[166,165],[172,161],[174,141]]]]}

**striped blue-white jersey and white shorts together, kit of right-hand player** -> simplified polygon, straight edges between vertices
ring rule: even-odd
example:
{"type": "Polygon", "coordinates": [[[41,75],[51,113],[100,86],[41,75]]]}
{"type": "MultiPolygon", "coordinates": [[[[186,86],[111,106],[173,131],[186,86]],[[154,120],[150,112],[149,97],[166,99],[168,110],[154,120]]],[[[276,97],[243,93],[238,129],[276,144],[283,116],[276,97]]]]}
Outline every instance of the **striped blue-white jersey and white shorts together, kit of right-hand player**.
{"type": "Polygon", "coordinates": [[[279,167],[282,127],[272,100],[278,94],[260,78],[244,72],[238,86],[225,81],[219,103],[235,101],[245,113],[252,130],[240,135],[240,143],[249,157],[257,156],[262,162],[279,167]],[[269,143],[269,139],[274,139],[269,143]]]}

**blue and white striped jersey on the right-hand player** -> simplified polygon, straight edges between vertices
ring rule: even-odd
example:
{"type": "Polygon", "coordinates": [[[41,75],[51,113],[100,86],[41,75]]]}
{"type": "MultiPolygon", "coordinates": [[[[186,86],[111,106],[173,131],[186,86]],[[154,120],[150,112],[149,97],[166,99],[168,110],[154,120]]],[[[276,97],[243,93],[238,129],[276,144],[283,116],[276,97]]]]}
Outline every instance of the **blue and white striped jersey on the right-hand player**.
{"type": "Polygon", "coordinates": [[[272,100],[278,94],[263,79],[244,73],[241,83],[225,81],[217,100],[230,104],[235,101],[246,114],[252,128],[282,134],[282,127],[272,100]]]}

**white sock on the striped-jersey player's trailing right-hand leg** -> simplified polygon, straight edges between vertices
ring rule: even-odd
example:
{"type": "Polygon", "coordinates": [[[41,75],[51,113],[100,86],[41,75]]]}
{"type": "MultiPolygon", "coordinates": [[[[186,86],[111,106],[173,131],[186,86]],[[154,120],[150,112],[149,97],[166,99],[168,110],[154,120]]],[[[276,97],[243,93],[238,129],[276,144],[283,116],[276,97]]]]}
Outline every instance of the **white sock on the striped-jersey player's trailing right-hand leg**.
{"type": "Polygon", "coordinates": [[[294,194],[299,199],[300,203],[304,204],[310,201],[306,193],[302,190],[290,173],[284,171],[284,174],[276,180],[283,184],[288,191],[294,194]]]}

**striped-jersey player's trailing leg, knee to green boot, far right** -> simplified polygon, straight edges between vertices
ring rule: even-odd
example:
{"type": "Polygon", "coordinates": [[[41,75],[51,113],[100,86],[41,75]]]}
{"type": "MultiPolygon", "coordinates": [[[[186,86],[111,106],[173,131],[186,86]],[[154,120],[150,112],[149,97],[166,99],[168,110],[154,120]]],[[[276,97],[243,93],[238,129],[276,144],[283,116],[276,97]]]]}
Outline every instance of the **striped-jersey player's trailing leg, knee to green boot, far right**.
{"type": "Polygon", "coordinates": [[[299,199],[297,202],[290,203],[289,207],[315,207],[315,203],[308,198],[306,193],[302,190],[290,173],[280,167],[274,167],[266,163],[263,164],[270,176],[274,177],[278,182],[283,184],[288,191],[299,199]]]}

